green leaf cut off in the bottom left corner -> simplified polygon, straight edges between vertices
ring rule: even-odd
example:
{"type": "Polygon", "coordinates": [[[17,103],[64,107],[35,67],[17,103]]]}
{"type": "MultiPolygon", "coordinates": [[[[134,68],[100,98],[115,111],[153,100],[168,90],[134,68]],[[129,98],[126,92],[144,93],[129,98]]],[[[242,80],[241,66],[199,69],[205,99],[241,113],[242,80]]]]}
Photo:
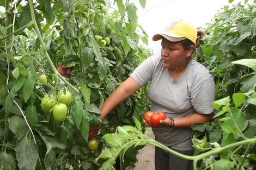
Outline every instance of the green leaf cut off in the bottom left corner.
{"type": "Polygon", "coordinates": [[[0,154],[0,169],[14,170],[16,168],[16,162],[13,155],[6,152],[0,154]]]}

